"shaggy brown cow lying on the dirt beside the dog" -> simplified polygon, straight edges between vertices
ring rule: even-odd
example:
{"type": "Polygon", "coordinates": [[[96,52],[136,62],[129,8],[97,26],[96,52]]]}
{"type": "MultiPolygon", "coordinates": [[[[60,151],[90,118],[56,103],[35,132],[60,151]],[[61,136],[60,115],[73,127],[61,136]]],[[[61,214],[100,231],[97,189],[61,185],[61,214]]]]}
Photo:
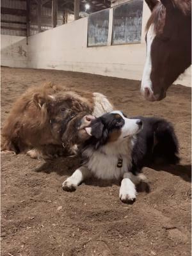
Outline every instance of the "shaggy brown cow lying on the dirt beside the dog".
{"type": "Polygon", "coordinates": [[[69,92],[52,83],[30,88],[13,105],[1,131],[1,150],[44,159],[76,154],[90,115],[113,110],[100,93],[69,92]],[[89,115],[90,114],[90,115],[89,115]]]}

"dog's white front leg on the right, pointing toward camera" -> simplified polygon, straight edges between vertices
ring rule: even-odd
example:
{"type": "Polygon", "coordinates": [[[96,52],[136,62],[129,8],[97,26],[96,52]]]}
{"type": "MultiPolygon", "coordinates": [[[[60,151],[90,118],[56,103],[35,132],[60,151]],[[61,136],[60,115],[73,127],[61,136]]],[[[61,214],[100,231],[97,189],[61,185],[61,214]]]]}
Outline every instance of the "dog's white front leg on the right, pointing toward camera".
{"type": "Polygon", "coordinates": [[[122,184],[120,186],[120,200],[122,200],[124,203],[134,202],[136,194],[136,188],[131,179],[129,179],[129,173],[125,173],[124,179],[122,179],[122,184]]]}

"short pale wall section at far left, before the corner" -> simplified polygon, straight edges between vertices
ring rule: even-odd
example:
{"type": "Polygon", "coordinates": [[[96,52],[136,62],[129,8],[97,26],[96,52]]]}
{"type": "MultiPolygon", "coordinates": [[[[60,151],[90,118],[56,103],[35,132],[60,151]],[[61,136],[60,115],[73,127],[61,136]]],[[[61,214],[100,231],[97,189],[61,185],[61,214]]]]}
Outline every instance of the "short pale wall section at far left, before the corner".
{"type": "Polygon", "coordinates": [[[1,65],[28,67],[28,45],[25,36],[1,35],[1,65]]]}

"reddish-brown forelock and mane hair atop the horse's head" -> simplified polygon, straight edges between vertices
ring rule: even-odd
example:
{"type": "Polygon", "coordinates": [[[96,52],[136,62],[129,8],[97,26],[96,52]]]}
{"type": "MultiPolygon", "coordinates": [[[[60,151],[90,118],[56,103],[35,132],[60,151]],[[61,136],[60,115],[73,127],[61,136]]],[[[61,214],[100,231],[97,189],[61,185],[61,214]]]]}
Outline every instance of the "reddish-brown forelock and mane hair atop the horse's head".
{"type": "MultiPolygon", "coordinates": [[[[175,9],[180,10],[184,15],[191,15],[191,0],[170,0],[175,9]]],[[[161,33],[164,27],[164,21],[166,16],[166,8],[159,2],[152,11],[150,18],[146,25],[146,31],[148,31],[150,25],[153,24],[154,31],[161,33]]]]}

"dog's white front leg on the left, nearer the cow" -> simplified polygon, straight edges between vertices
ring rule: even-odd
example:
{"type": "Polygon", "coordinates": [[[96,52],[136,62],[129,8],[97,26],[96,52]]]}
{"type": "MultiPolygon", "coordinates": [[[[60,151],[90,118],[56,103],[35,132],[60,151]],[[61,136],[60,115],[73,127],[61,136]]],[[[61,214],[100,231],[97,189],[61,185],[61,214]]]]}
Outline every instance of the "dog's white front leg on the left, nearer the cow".
{"type": "Polygon", "coordinates": [[[79,167],[70,177],[62,184],[62,188],[66,191],[74,191],[77,186],[91,176],[91,172],[85,166],[79,167]]]}

